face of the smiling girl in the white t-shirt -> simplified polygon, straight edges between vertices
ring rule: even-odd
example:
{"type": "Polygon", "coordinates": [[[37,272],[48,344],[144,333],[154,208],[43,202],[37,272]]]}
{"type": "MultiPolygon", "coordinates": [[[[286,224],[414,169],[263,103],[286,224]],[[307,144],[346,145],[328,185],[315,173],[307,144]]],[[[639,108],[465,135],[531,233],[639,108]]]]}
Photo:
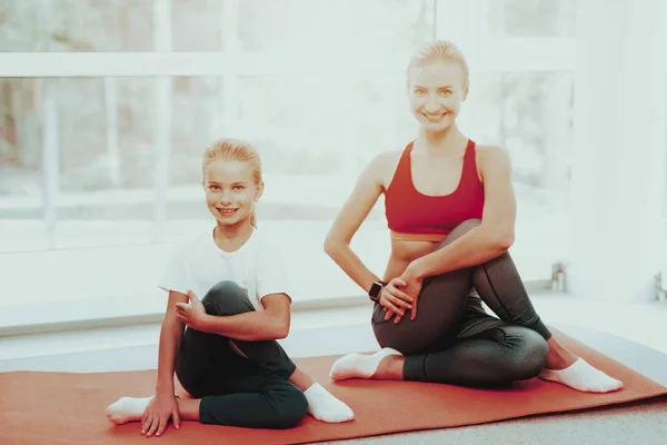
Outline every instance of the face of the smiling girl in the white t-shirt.
{"type": "Polygon", "coordinates": [[[202,186],[209,211],[223,226],[249,222],[263,191],[263,182],[255,184],[248,162],[222,158],[206,166],[202,186]]]}

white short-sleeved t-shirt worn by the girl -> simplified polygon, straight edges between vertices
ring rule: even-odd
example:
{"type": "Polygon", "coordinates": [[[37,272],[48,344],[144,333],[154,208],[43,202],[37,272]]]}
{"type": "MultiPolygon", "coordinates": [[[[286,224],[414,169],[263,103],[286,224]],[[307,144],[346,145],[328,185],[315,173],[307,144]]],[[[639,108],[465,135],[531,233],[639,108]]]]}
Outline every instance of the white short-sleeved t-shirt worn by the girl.
{"type": "Polygon", "coordinates": [[[283,266],[280,250],[258,229],[235,251],[220,249],[211,229],[176,246],[158,286],[181,294],[191,289],[202,299],[216,284],[231,280],[246,290],[257,310],[263,310],[261,299],[267,295],[286,294],[291,300],[283,266]]]}

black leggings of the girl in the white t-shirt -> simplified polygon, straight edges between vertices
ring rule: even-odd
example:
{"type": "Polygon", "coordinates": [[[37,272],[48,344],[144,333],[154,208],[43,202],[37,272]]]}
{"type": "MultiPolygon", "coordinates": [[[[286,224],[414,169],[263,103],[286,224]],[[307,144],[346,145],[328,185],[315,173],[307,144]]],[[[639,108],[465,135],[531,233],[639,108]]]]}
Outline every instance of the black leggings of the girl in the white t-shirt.
{"type": "MultiPolygon", "coordinates": [[[[232,281],[213,286],[201,300],[207,314],[229,316],[255,310],[248,295],[232,281]]],[[[176,374],[183,388],[201,398],[205,424],[251,428],[290,428],[308,411],[303,393],[287,379],[296,365],[275,340],[232,340],[186,329],[176,374]]]]}

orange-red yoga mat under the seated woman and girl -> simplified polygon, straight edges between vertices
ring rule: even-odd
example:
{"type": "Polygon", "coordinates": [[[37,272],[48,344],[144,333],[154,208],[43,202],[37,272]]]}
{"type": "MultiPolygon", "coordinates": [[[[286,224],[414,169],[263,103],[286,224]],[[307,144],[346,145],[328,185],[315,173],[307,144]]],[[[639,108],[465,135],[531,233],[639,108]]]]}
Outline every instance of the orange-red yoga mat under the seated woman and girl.
{"type": "Polygon", "coordinates": [[[297,444],[379,434],[449,428],[537,414],[627,403],[667,394],[667,387],[615,362],[567,335],[555,335],[593,366],[624,382],[609,394],[586,394],[537,378],[502,389],[450,385],[346,380],[334,384],[328,372],[338,356],[297,359],[297,364],[356,414],[354,422],[325,424],[307,416],[287,431],[247,429],[182,422],[162,437],[145,438],[138,423],[112,425],[106,407],[120,396],[146,397],[156,370],[122,373],[0,374],[0,443],[57,444],[297,444]]]}

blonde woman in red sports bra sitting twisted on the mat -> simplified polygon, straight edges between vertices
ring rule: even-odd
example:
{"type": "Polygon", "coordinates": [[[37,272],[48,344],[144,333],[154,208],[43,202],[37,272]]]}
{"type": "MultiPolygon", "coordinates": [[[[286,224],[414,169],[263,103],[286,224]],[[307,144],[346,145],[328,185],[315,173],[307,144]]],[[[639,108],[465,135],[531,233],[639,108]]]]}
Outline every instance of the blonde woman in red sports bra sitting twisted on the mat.
{"type": "Polygon", "coordinates": [[[583,392],[620,388],[558,343],[532,308],[507,253],[516,214],[509,157],[477,146],[456,123],[468,95],[461,52],[447,41],[427,44],[407,80],[417,138],[370,162],[325,243],[375,301],[384,348],[340,358],[331,378],[496,385],[539,375],[583,392]],[[349,246],[380,194],[391,234],[382,279],[349,246]]]}

